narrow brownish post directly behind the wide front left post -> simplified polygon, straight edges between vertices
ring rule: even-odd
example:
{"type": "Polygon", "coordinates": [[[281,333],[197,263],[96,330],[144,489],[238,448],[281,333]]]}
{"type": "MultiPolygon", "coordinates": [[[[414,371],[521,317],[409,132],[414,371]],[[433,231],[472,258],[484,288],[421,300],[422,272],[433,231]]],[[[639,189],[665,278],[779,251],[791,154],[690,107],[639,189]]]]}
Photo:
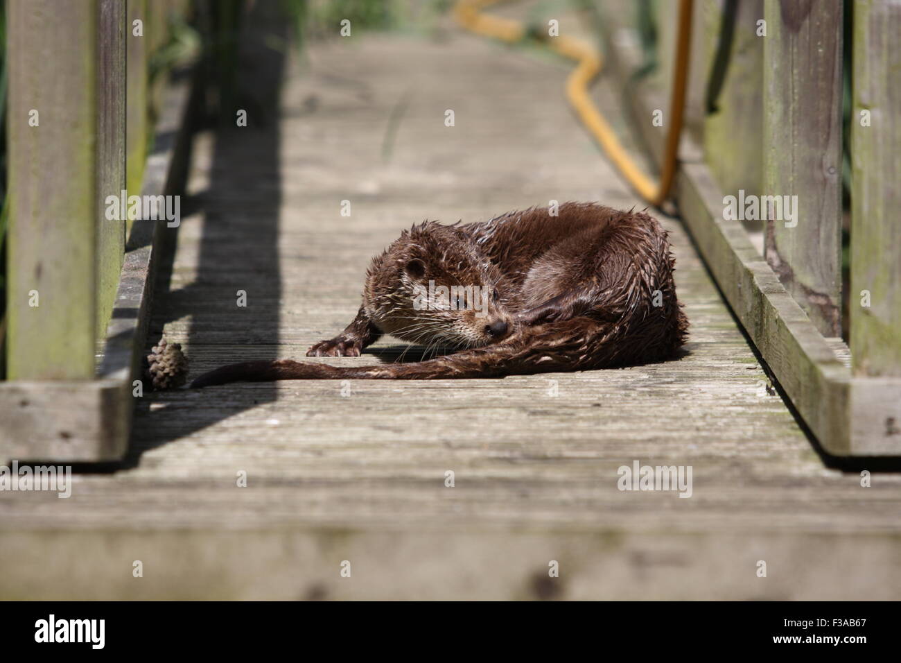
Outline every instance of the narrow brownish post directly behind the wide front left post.
{"type": "Polygon", "coordinates": [[[106,198],[125,189],[125,3],[99,0],[97,6],[97,336],[102,338],[113,310],[125,250],[125,219],[105,216],[106,198]]]}

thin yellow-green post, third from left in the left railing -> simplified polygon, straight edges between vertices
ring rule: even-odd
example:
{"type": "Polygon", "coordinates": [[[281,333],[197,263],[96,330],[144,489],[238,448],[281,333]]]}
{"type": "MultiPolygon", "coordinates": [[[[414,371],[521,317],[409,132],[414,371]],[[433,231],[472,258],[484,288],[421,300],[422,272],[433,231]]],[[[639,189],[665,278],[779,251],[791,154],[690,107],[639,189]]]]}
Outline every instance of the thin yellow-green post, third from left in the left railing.
{"type": "MultiPolygon", "coordinates": [[[[125,43],[128,54],[125,105],[125,184],[129,195],[141,194],[150,115],[147,107],[148,44],[147,0],[128,0],[125,43]],[[134,22],[141,21],[141,35],[134,34],[134,22]]],[[[131,227],[128,223],[128,227],[131,227]]]]}

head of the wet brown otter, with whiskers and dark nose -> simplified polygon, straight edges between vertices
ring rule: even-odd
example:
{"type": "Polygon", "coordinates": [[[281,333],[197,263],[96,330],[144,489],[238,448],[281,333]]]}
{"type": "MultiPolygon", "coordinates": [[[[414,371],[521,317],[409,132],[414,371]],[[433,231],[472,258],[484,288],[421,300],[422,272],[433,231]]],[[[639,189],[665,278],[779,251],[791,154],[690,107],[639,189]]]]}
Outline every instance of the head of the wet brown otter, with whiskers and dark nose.
{"type": "Polygon", "coordinates": [[[413,343],[490,345],[513,331],[501,281],[459,227],[426,221],[372,261],[365,307],[382,331],[413,343]]]}

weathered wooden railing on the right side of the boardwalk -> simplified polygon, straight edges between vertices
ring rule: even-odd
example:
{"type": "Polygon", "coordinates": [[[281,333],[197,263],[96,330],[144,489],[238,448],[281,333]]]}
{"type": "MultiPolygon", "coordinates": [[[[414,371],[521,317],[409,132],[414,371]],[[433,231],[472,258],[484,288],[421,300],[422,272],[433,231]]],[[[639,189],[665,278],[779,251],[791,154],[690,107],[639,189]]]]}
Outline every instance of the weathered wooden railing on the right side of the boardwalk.
{"type": "MultiPolygon", "coordinates": [[[[901,5],[848,2],[851,43],[837,0],[696,0],[674,197],[824,450],[901,456],[901,5]],[[841,338],[843,49],[852,55],[850,365],[841,338]],[[761,220],[734,218],[727,197],[739,209],[742,197],[756,198],[761,220]]],[[[641,61],[634,40],[623,39],[634,5],[596,6],[608,67],[625,81],[641,61]]],[[[666,127],[651,116],[666,108],[676,3],[655,6],[659,80],[628,103],[648,118],[637,126],[657,156],[666,127]]]]}

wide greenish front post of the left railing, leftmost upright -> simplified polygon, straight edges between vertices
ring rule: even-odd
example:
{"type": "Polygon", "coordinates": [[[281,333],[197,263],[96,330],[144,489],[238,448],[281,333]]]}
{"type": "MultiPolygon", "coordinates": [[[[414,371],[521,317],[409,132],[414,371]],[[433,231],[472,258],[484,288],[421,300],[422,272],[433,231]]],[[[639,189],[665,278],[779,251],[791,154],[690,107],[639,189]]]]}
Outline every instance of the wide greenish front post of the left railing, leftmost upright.
{"type": "Polygon", "coordinates": [[[34,0],[7,8],[7,378],[86,379],[95,372],[102,217],[97,4],[34,0]],[[30,126],[30,117],[39,124],[30,126]]]}

